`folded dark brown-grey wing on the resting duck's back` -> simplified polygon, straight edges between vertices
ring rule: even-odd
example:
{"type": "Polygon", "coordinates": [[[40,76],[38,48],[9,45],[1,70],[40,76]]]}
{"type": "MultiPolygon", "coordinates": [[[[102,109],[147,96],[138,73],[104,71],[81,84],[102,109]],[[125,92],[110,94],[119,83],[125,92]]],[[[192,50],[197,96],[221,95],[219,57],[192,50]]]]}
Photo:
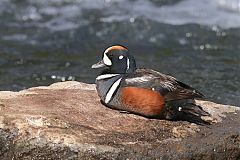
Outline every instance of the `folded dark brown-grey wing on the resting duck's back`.
{"type": "Polygon", "coordinates": [[[166,101],[204,97],[199,91],[176,78],[150,69],[137,69],[134,74],[125,78],[125,85],[158,91],[166,101]]]}

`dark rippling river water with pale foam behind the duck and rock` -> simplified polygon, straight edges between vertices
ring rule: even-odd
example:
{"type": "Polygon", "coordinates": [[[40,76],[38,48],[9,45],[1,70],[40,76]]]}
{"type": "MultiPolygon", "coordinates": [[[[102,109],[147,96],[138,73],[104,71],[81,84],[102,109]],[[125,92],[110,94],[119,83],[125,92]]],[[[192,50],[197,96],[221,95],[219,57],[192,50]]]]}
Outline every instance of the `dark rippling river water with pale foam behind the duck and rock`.
{"type": "Polygon", "coordinates": [[[0,90],[94,83],[112,44],[208,99],[240,105],[238,0],[1,0],[0,90]]]}

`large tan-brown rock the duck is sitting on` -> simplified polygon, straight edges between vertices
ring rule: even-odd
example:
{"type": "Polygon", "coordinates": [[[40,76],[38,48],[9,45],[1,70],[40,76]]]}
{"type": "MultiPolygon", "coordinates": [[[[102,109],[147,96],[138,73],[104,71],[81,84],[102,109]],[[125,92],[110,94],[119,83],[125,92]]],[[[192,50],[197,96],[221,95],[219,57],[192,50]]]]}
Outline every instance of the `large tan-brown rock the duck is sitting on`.
{"type": "Polygon", "coordinates": [[[0,92],[0,159],[239,159],[240,108],[197,101],[211,125],[103,106],[95,85],[0,92]]]}

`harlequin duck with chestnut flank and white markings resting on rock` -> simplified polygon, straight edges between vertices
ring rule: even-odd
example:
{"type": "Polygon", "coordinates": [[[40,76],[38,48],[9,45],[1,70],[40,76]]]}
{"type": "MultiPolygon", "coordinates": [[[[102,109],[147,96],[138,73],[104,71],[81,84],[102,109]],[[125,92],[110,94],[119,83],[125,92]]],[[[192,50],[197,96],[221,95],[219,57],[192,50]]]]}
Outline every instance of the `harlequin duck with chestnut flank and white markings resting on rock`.
{"type": "Polygon", "coordinates": [[[105,67],[96,78],[102,103],[110,108],[149,118],[184,119],[209,115],[195,104],[203,98],[196,89],[151,69],[138,69],[134,57],[121,45],[107,48],[92,68],[105,67]]]}

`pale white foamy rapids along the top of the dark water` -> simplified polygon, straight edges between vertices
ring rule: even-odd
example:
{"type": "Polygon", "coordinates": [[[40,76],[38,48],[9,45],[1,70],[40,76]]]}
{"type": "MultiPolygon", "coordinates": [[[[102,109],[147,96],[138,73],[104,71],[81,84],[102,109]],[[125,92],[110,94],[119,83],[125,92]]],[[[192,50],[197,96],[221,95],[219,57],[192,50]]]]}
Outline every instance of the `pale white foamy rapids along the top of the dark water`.
{"type": "Polygon", "coordinates": [[[153,21],[182,25],[197,23],[222,28],[240,27],[240,0],[182,0],[173,5],[155,5],[150,0],[26,0],[17,7],[14,1],[0,1],[0,14],[12,12],[18,20],[34,21],[38,27],[52,31],[88,25],[82,17],[86,10],[99,10],[103,22],[147,18],[153,21]],[[47,18],[44,18],[47,17],[47,18]]]}

